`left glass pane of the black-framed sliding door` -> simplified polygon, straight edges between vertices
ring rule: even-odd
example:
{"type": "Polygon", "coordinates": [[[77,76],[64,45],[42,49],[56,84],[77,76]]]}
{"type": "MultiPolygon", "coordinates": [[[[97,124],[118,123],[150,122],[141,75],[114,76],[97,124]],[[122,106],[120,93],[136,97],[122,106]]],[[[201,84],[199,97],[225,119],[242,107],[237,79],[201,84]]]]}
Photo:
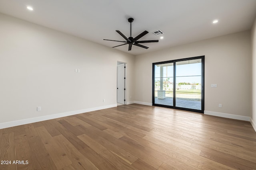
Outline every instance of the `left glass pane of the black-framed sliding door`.
{"type": "Polygon", "coordinates": [[[173,63],[154,65],[154,103],[173,106],[173,63]]]}

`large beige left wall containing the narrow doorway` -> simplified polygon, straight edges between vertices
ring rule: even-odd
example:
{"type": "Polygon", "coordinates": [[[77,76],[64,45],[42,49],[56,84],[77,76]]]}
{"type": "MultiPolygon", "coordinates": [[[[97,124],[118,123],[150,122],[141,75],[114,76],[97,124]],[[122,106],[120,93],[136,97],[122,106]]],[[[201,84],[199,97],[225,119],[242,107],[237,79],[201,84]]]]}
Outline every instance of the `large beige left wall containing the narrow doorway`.
{"type": "Polygon", "coordinates": [[[133,100],[133,55],[3,14],[0,25],[0,123],[115,105],[117,61],[133,100]]]}

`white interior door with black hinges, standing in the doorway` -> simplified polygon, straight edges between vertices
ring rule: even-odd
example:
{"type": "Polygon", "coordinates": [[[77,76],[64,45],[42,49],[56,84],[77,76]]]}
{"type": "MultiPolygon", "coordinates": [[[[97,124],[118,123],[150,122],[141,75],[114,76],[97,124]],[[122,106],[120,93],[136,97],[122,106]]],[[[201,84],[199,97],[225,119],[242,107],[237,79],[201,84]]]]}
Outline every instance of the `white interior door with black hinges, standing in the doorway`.
{"type": "Polygon", "coordinates": [[[124,104],[125,101],[125,64],[117,66],[117,102],[124,104]]]}

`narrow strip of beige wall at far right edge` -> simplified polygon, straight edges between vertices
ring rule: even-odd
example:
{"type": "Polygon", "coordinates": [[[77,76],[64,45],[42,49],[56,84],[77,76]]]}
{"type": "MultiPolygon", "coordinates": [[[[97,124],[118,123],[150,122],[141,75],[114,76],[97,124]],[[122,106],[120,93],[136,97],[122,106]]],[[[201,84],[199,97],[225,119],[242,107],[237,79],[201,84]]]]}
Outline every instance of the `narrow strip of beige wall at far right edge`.
{"type": "Polygon", "coordinates": [[[252,115],[251,123],[256,131],[256,18],[252,27],[252,115]]]}

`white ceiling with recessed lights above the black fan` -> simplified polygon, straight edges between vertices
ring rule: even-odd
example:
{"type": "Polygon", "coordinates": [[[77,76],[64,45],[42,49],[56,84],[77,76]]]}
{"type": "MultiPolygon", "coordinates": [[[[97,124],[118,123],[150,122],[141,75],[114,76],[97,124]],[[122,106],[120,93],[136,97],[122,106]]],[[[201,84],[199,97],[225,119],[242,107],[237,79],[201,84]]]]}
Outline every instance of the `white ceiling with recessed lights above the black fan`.
{"type": "Polygon", "coordinates": [[[256,0],[0,0],[0,13],[113,47],[125,41],[115,30],[130,36],[128,18],[134,18],[132,37],[149,49],[128,45],[120,51],[139,55],[167,47],[248,30],[256,17],[256,0]],[[28,11],[26,6],[34,11],[28,11]],[[219,22],[213,24],[212,21],[219,22]],[[164,39],[152,34],[162,30],[164,39]]]}

